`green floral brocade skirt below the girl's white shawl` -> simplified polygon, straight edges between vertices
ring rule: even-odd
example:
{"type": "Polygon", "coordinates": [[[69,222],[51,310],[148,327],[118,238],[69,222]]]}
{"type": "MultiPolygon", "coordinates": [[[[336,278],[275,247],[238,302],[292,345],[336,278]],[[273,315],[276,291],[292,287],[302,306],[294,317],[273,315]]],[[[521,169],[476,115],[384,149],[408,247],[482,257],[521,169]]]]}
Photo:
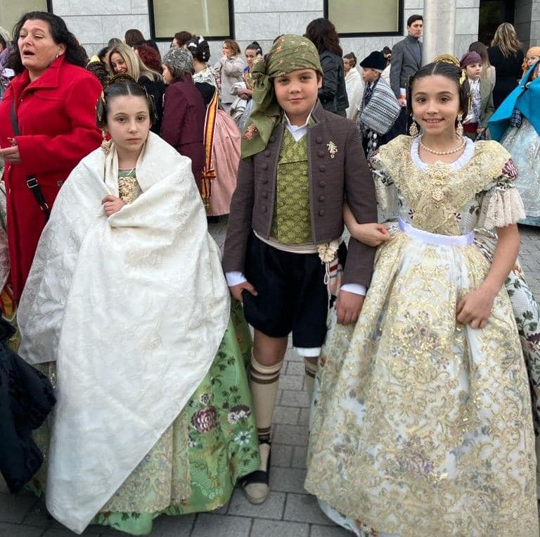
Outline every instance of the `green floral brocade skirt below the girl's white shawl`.
{"type": "MultiPolygon", "coordinates": [[[[241,476],[259,467],[259,447],[246,367],[251,336],[242,308],[233,301],[231,319],[214,363],[178,417],[134,469],[91,524],[146,535],[160,514],[215,510],[224,505],[241,476]]],[[[41,366],[52,381],[54,362],[41,366]]],[[[34,440],[49,446],[46,423],[34,440]]],[[[39,495],[46,463],[30,488],[39,495]]]]}

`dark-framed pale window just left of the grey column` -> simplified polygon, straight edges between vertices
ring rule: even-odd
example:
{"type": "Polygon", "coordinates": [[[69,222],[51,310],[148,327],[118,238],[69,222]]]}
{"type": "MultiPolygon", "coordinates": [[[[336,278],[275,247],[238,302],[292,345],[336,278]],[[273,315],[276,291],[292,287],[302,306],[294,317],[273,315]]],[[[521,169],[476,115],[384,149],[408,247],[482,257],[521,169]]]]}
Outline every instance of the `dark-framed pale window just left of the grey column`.
{"type": "Polygon", "coordinates": [[[341,37],[401,35],[403,0],[324,0],[324,16],[341,37]]]}

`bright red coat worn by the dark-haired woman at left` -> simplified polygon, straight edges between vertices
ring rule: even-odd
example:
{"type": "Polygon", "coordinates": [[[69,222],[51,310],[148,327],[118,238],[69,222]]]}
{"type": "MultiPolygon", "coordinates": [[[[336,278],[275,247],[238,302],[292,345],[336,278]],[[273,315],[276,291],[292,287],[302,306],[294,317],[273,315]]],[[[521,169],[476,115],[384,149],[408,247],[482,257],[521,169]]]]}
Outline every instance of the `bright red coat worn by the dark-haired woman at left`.
{"type": "Polygon", "coordinates": [[[30,83],[28,71],[15,77],[0,102],[0,146],[11,146],[11,103],[15,101],[20,136],[20,164],[6,162],[8,241],[11,281],[20,298],[32,266],[45,217],[26,184],[35,175],[51,208],[62,186],[84,156],[101,144],[96,127],[98,79],[60,56],[30,83]]]}

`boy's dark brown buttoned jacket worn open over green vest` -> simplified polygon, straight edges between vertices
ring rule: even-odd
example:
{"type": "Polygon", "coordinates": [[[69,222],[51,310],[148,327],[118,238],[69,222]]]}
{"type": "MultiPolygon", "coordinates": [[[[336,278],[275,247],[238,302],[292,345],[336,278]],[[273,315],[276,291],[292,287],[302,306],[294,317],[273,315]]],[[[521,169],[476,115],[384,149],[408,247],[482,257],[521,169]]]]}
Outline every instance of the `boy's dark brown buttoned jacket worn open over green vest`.
{"type": "MultiPolygon", "coordinates": [[[[377,221],[377,203],[356,125],[323,110],[319,102],[311,117],[315,121],[307,129],[311,235],[320,244],[341,236],[345,200],[361,224],[377,221]],[[334,158],[327,146],[330,141],[338,149],[334,158]]],[[[266,149],[240,162],[224,246],[225,272],[245,272],[252,229],[264,238],[270,236],[283,129],[285,125],[278,123],[266,149]]],[[[369,286],[374,257],[375,248],[351,238],[342,283],[369,286]]]]}

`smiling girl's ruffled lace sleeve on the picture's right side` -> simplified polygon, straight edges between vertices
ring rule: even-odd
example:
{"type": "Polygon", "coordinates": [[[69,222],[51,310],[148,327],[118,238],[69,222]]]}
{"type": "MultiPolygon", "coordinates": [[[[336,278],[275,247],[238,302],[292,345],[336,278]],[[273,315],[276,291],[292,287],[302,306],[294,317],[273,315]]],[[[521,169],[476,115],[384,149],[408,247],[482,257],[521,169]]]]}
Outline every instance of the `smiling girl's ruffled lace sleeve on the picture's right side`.
{"type": "Polygon", "coordinates": [[[486,189],[480,208],[479,227],[506,227],[525,218],[523,202],[514,184],[516,177],[518,168],[510,159],[504,165],[501,175],[486,189]]]}

